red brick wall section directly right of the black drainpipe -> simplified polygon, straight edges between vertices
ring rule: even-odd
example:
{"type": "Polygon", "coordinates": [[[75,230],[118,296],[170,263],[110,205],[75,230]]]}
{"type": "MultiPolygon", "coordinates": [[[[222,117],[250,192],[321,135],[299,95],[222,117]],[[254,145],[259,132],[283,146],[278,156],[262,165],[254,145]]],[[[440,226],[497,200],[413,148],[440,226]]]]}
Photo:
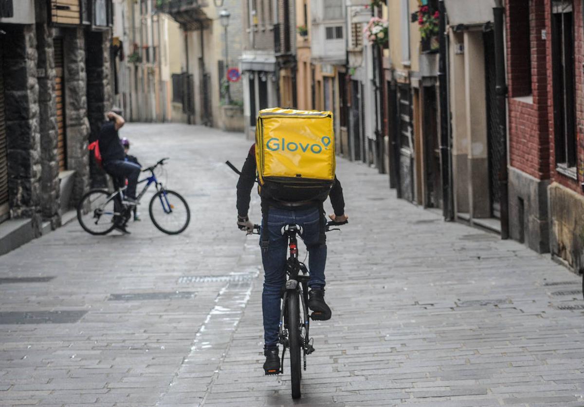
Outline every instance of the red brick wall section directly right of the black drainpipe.
{"type": "Polygon", "coordinates": [[[540,180],[550,178],[548,78],[551,75],[548,72],[551,71],[548,71],[547,44],[541,38],[541,30],[550,32],[546,25],[549,2],[529,1],[529,41],[526,41],[524,16],[526,0],[510,0],[506,11],[510,164],[540,180]],[[530,93],[531,103],[515,99],[530,93]]]}

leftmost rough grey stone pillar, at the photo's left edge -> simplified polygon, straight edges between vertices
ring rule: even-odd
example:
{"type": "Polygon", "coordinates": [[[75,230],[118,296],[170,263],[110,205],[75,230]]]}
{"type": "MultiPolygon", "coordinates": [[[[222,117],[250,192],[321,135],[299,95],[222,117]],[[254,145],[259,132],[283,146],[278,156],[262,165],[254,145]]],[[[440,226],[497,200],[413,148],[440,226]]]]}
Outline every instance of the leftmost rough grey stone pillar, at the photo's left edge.
{"type": "Polygon", "coordinates": [[[36,79],[36,30],[30,25],[3,26],[8,178],[12,217],[40,223],[41,157],[39,85],[36,79]]]}

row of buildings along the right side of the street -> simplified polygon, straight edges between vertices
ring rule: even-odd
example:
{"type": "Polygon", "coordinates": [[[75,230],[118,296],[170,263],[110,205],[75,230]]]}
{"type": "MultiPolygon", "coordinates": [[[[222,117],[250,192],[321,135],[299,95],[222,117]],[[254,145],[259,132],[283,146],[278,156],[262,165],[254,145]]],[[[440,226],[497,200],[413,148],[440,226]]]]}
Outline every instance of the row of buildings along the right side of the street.
{"type": "Polygon", "coordinates": [[[244,0],[245,134],[331,110],[399,198],[584,271],[582,0],[244,0]]]}

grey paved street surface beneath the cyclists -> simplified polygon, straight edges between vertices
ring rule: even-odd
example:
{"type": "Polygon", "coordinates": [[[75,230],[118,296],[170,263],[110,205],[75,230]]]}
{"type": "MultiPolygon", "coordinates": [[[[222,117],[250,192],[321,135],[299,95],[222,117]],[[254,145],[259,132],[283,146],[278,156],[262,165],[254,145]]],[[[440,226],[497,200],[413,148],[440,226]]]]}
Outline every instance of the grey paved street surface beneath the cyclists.
{"type": "Polygon", "coordinates": [[[224,164],[241,167],[251,141],[182,124],[120,136],[143,166],[171,157],[160,179],[189,202],[190,226],[155,229],[147,195],[129,236],[73,220],[0,257],[0,405],[584,406],[579,276],[340,158],[350,223],[328,234],[333,316],[311,324],[293,402],[288,360],[263,375],[258,236],[235,226],[224,164]]]}

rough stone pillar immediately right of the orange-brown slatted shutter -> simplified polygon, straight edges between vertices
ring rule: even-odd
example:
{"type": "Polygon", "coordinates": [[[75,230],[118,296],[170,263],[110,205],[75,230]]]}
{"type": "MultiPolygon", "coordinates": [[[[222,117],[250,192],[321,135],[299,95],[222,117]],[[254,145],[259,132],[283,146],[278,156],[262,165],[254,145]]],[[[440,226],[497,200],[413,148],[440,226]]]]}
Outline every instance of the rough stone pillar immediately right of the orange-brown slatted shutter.
{"type": "Polygon", "coordinates": [[[69,204],[77,206],[89,187],[89,121],[87,119],[87,79],[85,35],[82,28],[64,30],[65,110],[67,122],[67,168],[75,170],[69,204]]]}

